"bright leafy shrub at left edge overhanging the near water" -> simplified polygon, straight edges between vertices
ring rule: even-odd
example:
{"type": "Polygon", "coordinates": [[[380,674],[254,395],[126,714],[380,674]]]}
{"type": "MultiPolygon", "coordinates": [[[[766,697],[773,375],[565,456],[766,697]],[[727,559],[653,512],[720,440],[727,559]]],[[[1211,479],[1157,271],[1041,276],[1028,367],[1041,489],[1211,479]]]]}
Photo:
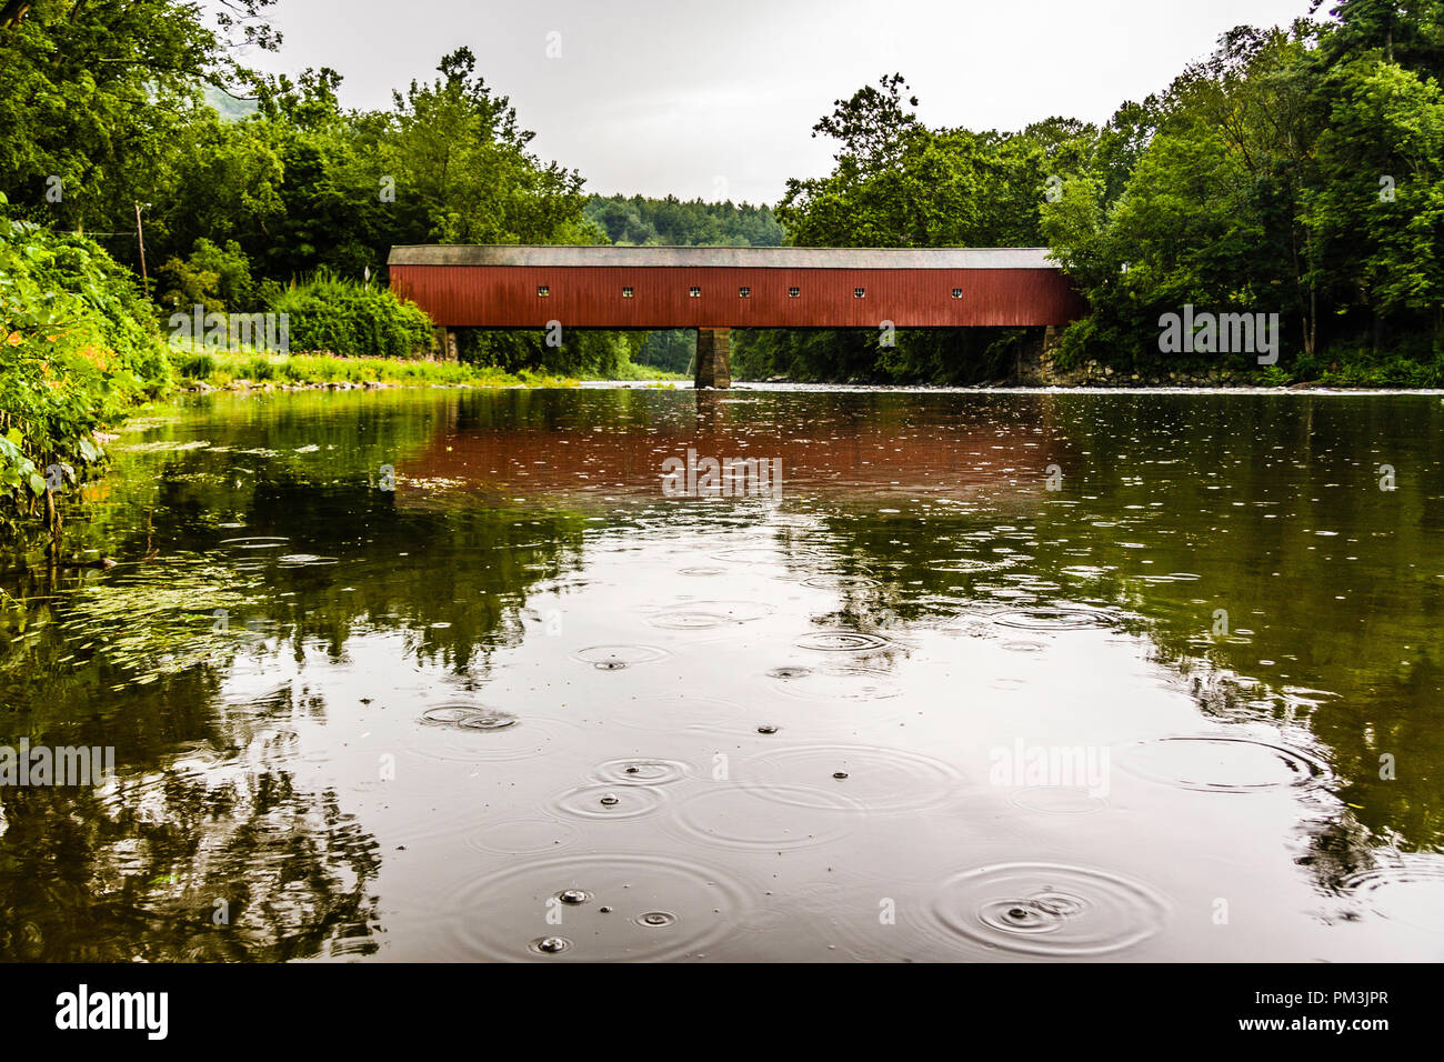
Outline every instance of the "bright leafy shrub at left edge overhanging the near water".
{"type": "Polygon", "coordinates": [[[95,431],[170,380],[129,270],[85,237],[0,217],[0,519],[49,509],[101,458],[95,431]]]}

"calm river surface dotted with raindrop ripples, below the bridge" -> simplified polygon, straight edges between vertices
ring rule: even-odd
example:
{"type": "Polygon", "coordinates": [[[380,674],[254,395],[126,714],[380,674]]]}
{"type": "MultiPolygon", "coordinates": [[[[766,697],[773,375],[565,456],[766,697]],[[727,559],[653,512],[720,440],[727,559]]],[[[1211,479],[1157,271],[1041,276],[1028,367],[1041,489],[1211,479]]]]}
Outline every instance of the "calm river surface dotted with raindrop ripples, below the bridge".
{"type": "Polygon", "coordinates": [[[0,957],[1444,958],[1441,428],[644,389],[133,422],[68,524],[118,564],[0,577],[0,744],[116,763],[0,787],[0,957]],[[670,497],[689,448],[781,488],[670,497]]]}

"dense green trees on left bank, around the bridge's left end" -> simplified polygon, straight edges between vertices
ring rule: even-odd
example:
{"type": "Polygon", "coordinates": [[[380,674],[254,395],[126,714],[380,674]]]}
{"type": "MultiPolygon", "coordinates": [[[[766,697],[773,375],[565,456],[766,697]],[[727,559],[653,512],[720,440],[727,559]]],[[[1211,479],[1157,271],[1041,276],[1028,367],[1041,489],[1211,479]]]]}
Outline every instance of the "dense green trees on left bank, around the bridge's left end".
{"type": "MultiPolygon", "coordinates": [[[[580,176],[530,152],[469,49],[390,108],[347,111],[334,71],[267,78],[237,64],[237,43],[279,43],[271,3],[241,0],[209,23],[178,0],[39,0],[7,17],[0,188],[17,217],[88,231],[137,273],[149,264],[162,321],[195,306],[286,312],[293,350],[364,355],[433,345],[419,311],[384,290],[391,246],[606,240],[580,176]]],[[[569,374],[628,374],[635,347],[465,342],[481,367],[569,374]]]]}

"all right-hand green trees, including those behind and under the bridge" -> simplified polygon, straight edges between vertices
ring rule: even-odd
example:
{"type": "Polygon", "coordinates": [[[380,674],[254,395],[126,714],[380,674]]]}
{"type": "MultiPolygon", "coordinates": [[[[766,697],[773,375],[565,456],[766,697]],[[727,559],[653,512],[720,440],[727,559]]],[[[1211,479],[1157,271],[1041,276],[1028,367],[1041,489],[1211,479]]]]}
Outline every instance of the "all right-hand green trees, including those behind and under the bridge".
{"type": "MultiPolygon", "coordinates": [[[[1064,335],[1063,364],[1444,384],[1444,3],[1341,0],[1328,14],[1229,32],[1102,129],[933,130],[901,77],[884,78],[817,123],[839,144],[836,168],[791,181],[777,217],[803,246],[1053,247],[1093,308],[1064,335]],[[1187,305],[1279,314],[1279,363],[1161,353],[1160,316],[1187,305]]],[[[979,337],[878,338],[744,335],[738,371],[1006,374],[1005,347],[979,357],[979,337]]]]}

